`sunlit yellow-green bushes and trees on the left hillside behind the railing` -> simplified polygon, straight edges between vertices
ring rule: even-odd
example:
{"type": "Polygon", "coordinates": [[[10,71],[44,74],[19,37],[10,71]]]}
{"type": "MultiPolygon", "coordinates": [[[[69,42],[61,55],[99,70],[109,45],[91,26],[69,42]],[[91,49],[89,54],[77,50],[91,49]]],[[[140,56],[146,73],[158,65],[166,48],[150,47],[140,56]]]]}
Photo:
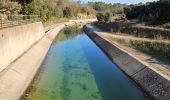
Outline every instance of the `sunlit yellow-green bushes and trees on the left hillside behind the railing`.
{"type": "Polygon", "coordinates": [[[1,14],[40,15],[42,21],[55,18],[85,18],[95,14],[87,4],[71,0],[2,0],[1,14]]]}

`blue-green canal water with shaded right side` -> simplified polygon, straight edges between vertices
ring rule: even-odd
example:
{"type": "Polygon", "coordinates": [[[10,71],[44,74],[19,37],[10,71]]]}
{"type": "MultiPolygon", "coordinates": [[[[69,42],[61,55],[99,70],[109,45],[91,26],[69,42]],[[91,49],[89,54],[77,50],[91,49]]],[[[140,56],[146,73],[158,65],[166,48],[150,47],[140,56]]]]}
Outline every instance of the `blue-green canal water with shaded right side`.
{"type": "Polygon", "coordinates": [[[62,32],[35,79],[28,100],[146,100],[85,34],[62,32]]]}

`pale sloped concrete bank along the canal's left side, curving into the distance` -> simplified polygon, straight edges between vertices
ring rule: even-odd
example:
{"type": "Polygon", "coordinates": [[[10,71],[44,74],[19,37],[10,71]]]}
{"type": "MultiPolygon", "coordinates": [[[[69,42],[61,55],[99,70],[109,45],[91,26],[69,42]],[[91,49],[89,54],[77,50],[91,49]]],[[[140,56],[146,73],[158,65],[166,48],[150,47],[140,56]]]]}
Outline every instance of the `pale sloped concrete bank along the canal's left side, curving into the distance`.
{"type": "Polygon", "coordinates": [[[36,75],[53,40],[61,29],[89,21],[93,20],[57,24],[54,27],[50,27],[47,33],[44,32],[44,29],[41,30],[44,32],[43,37],[28,47],[29,49],[23,55],[16,58],[14,62],[0,72],[0,100],[20,99],[36,75]]]}

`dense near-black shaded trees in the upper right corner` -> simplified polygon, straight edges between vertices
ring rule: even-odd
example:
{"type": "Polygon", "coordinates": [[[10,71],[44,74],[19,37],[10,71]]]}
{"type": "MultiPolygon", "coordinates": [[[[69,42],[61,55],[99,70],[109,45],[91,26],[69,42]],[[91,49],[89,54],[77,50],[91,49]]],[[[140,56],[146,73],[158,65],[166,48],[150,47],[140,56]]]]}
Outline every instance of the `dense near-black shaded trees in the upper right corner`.
{"type": "Polygon", "coordinates": [[[160,0],[146,4],[130,5],[124,8],[127,19],[150,21],[152,24],[170,22],[170,1],[160,0]]]}

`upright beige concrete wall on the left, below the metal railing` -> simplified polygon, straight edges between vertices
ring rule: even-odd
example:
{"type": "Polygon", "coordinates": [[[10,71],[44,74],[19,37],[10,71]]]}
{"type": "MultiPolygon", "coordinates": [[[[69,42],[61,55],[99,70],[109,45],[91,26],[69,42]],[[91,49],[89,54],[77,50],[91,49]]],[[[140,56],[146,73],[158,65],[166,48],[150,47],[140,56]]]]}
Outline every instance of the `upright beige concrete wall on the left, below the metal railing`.
{"type": "Polygon", "coordinates": [[[0,72],[44,35],[41,22],[0,30],[0,72]]]}

